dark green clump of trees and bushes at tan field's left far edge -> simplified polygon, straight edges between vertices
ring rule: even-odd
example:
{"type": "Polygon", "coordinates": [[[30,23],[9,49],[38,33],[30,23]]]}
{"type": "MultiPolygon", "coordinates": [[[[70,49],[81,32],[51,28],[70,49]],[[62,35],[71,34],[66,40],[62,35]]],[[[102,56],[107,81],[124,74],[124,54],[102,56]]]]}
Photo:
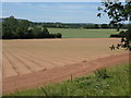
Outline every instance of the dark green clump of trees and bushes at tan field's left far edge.
{"type": "Polygon", "coordinates": [[[49,34],[45,25],[33,26],[27,20],[17,20],[14,16],[7,17],[2,21],[3,39],[29,39],[29,38],[61,38],[62,35],[49,34]]]}

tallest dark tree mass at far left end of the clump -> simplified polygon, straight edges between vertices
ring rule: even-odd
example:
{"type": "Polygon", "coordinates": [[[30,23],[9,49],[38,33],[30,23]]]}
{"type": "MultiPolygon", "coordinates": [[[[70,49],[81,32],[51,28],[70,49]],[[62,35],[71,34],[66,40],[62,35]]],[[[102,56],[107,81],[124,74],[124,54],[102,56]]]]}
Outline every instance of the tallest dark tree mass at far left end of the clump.
{"type": "Polygon", "coordinates": [[[26,38],[29,27],[27,20],[17,20],[14,16],[4,19],[2,22],[3,35],[2,38],[26,38]]]}

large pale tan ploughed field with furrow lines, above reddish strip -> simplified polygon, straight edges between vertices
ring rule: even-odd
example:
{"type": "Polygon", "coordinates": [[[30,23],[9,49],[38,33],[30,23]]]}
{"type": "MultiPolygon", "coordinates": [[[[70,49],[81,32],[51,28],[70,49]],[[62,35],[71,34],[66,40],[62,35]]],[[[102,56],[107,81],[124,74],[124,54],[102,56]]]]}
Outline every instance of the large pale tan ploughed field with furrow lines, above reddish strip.
{"type": "Polygon", "coordinates": [[[126,52],[110,51],[111,41],[117,39],[3,40],[3,77],[126,52]]]}

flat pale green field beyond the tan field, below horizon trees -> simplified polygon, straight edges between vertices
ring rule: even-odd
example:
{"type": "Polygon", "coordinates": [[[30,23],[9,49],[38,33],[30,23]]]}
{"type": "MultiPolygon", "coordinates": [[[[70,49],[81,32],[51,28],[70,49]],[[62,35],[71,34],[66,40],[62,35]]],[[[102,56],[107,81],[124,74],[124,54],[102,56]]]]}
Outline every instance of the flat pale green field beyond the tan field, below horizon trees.
{"type": "Polygon", "coordinates": [[[50,34],[61,33],[62,38],[109,38],[116,29],[48,28],[50,34]]]}

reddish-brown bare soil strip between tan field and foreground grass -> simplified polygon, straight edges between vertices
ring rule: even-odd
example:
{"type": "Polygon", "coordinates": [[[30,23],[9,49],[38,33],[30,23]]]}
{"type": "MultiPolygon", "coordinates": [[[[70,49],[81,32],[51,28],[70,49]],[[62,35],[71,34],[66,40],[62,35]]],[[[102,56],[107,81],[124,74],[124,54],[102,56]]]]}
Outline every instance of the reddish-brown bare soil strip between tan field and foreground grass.
{"type": "Polygon", "coordinates": [[[81,62],[63,68],[56,68],[48,71],[39,71],[37,73],[28,75],[5,78],[3,82],[3,93],[12,93],[16,89],[28,89],[33,87],[40,87],[49,83],[61,82],[64,79],[69,79],[71,74],[73,74],[73,77],[82,76],[97,69],[126,63],[128,61],[128,58],[129,54],[119,54],[115,57],[111,56],[107,58],[93,60],[90,62],[81,62]],[[106,62],[106,60],[108,62],[106,62]],[[22,78],[24,78],[24,81],[22,81],[22,78]],[[13,86],[15,85],[15,81],[19,84],[16,86],[13,86]]]}

